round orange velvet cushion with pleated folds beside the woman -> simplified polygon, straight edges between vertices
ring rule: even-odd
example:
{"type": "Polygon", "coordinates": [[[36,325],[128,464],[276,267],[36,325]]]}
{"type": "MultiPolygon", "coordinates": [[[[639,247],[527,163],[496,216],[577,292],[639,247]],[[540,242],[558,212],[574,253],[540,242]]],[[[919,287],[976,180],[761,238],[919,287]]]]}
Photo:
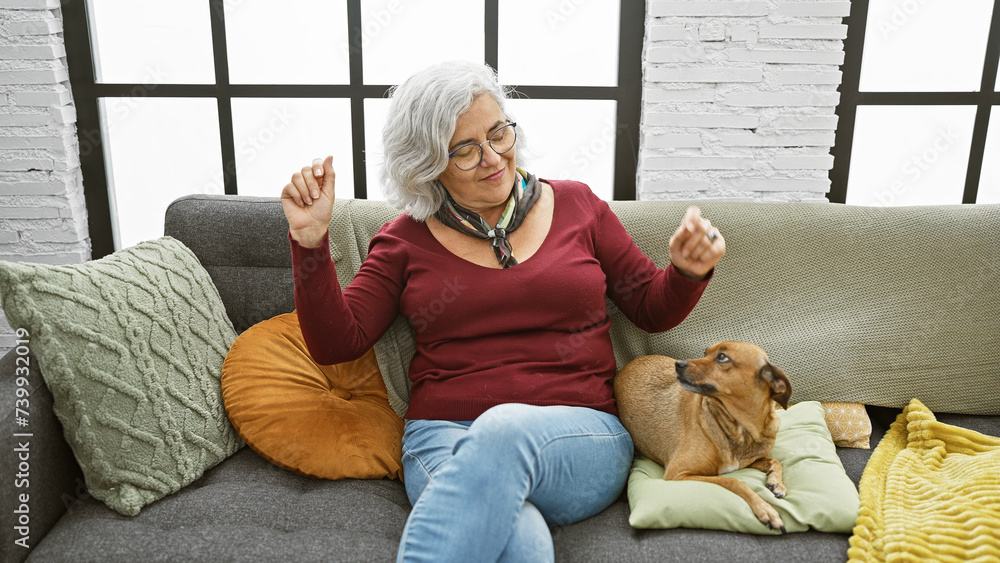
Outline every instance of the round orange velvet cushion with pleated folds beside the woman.
{"type": "Polygon", "coordinates": [[[236,338],[222,364],[222,400],[247,445],[279,467],[323,479],[401,477],[403,421],[375,353],[317,364],[294,312],[236,338]]]}

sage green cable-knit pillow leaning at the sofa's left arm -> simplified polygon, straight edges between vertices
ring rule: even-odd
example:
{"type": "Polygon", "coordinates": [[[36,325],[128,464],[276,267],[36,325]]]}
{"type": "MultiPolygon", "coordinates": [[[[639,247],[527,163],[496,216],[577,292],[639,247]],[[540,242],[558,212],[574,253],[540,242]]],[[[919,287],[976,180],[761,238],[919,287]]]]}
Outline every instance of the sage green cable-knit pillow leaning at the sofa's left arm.
{"type": "Polygon", "coordinates": [[[109,507],[134,516],[243,446],[219,384],[236,332],[180,241],[71,266],[0,262],[0,298],[28,331],[90,494],[109,507]]]}

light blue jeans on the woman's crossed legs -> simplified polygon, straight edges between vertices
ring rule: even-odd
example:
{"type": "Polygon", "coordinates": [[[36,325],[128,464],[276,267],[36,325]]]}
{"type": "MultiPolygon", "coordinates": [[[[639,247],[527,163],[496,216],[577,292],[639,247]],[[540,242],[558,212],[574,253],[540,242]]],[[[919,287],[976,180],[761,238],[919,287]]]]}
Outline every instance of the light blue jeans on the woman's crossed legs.
{"type": "Polygon", "coordinates": [[[548,525],[607,508],[631,464],[618,418],[588,408],[506,404],[473,422],[407,420],[413,511],[397,561],[552,561],[548,525]]]}

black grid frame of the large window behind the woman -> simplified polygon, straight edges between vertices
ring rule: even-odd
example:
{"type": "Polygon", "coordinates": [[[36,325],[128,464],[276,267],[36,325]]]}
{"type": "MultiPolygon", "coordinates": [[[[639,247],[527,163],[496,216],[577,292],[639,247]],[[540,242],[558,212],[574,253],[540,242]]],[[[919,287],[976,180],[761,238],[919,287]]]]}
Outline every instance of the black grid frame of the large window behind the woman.
{"type": "MultiPolygon", "coordinates": [[[[64,40],[70,82],[77,109],[91,254],[100,258],[114,252],[108,171],[98,103],[101,98],[149,97],[215,98],[218,103],[223,186],[237,194],[236,143],[233,133],[233,98],[346,98],[351,101],[352,152],[355,197],[367,197],[364,100],[383,98],[391,85],[365,84],[362,59],[361,0],[347,0],[350,83],[341,85],[230,84],[224,0],[207,0],[210,8],[215,84],[98,83],[92,50],[87,2],[64,2],[64,40]]],[[[485,63],[498,68],[499,0],[485,0],[485,63]]],[[[621,1],[617,86],[518,86],[530,99],[613,100],[617,102],[614,155],[614,198],[636,197],[639,118],[642,98],[642,46],[645,2],[621,1]]],[[[572,56],[567,54],[567,56],[572,56]]]]}

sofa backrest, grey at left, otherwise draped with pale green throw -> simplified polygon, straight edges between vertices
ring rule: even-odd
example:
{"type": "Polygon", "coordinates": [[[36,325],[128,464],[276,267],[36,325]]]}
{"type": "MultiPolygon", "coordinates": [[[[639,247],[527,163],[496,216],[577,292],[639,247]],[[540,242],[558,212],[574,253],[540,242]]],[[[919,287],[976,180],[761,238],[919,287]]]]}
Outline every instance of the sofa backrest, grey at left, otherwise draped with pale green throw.
{"type": "MultiPolygon", "coordinates": [[[[243,198],[239,206],[270,209],[240,212],[231,220],[225,217],[229,207],[213,207],[230,204],[209,206],[205,198],[224,202],[234,196],[194,197],[198,234],[168,234],[198,253],[237,330],[291,311],[291,274],[271,269],[289,261],[277,198],[243,198]],[[220,242],[225,229],[238,229],[237,240],[220,242]],[[277,250],[255,247],[272,239],[277,250]],[[273,304],[282,299],[286,304],[273,304]]],[[[690,203],[611,207],[640,248],[666,265],[670,235],[690,203]]],[[[746,340],[762,346],[789,374],[795,402],[901,408],[918,397],[935,411],[1000,414],[994,359],[1000,352],[1000,205],[697,204],[725,235],[726,256],[698,306],[669,332],[646,334],[611,307],[619,367],[643,354],[693,358],[715,342],[746,340]]],[[[384,202],[337,202],[330,241],[342,285],[357,272],[371,237],[397,215],[384,202]]],[[[189,217],[184,223],[195,226],[189,217]]],[[[403,318],[375,347],[390,405],[399,414],[406,407],[413,349],[403,318]]]]}

